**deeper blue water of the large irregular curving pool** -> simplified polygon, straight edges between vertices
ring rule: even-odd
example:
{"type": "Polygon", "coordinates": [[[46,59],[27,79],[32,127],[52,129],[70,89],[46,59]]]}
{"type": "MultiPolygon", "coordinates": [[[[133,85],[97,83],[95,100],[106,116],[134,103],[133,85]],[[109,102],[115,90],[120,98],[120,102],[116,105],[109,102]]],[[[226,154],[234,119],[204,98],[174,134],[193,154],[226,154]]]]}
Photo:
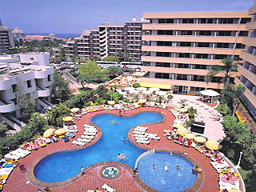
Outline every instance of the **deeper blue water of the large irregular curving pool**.
{"type": "Polygon", "coordinates": [[[143,112],[128,118],[99,114],[91,120],[102,129],[102,138],[94,146],[51,154],[38,162],[34,174],[42,182],[62,182],[77,175],[81,166],[91,166],[97,162],[118,161],[134,167],[136,159],[144,150],[134,146],[128,139],[126,142],[122,139],[128,138],[128,131],[132,127],[161,122],[162,118],[161,114],[154,112],[143,112]],[[111,120],[114,122],[110,122],[111,120]],[[125,154],[128,159],[119,160],[118,154],[125,154]]]}

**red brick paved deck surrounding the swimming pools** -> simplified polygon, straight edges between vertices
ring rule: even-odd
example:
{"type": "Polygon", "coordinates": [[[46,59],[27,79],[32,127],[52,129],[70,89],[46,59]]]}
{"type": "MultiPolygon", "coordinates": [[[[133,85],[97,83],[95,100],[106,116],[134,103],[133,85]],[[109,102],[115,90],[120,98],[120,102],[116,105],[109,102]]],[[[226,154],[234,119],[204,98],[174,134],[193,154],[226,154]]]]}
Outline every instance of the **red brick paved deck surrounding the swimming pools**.
{"type": "MultiPolygon", "coordinates": [[[[194,150],[193,148],[179,146],[178,144],[168,140],[166,137],[163,136],[164,134],[163,130],[169,129],[170,125],[173,124],[173,120],[174,120],[174,116],[169,112],[169,110],[156,109],[152,107],[150,108],[141,107],[136,110],[126,111],[125,116],[137,114],[142,111],[155,111],[155,112],[164,114],[166,116],[166,121],[162,123],[147,125],[149,127],[147,132],[158,134],[158,136],[161,136],[161,140],[160,141],[150,140],[150,145],[146,145],[146,147],[152,148],[152,149],[154,148],[154,149],[178,150],[180,153],[186,153],[188,156],[190,156],[190,158],[194,160],[194,162],[198,164],[198,166],[202,168],[204,173],[204,177],[202,179],[202,185],[197,191],[218,192],[219,190],[218,173],[210,165],[210,159],[206,158],[205,154],[200,154],[197,150],[194,150]]],[[[79,138],[82,135],[83,124],[85,123],[90,124],[90,118],[92,118],[96,114],[103,114],[103,113],[111,113],[111,114],[118,115],[118,110],[111,110],[111,111],[103,110],[103,111],[94,112],[93,114],[86,114],[82,116],[82,118],[78,122],[76,122],[76,125],[78,126],[79,131],[76,134],[76,137],[74,139],[79,138]]],[[[100,137],[100,135],[98,135],[98,137],[100,137]]],[[[130,141],[133,142],[134,138],[132,137],[130,132],[128,137],[130,141]]],[[[23,164],[26,167],[26,170],[29,170],[33,162],[35,162],[36,160],[38,160],[38,158],[42,157],[45,154],[54,153],[58,150],[81,149],[82,147],[74,146],[72,144],[72,141],[74,139],[70,139],[70,142],[59,141],[57,143],[52,143],[46,146],[45,148],[34,150],[26,158],[21,158],[19,162],[20,164],[23,164]]],[[[92,144],[94,144],[94,142],[92,142],[92,144]]],[[[138,146],[141,146],[142,148],[145,147],[145,145],[138,145],[138,146]]],[[[130,171],[124,167],[121,167],[122,174],[114,180],[106,180],[101,178],[99,174],[99,170],[101,170],[102,166],[96,166],[92,168],[84,176],[82,176],[81,178],[78,178],[74,182],[70,182],[69,184],[66,184],[64,186],[51,187],[51,189],[53,192],[54,191],[85,191],[86,192],[87,190],[96,190],[97,187],[101,189],[101,186],[104,183],[106,183],[109,186],[113,187],[117,192],[146,191],[142,189],[141,186],[138,185],[138,182],[134,180],[133,175],[130,173],[130,171]]],[[[31,191],[38,191],[38,189],[40,188],[42,189],[42,187],[34,186],[31,182],[26,184],[26,182],[28,181],[29,179],[28,179],[27,172],[21,173],[21,171],[18,168],[15,168],[13,173],[10,174],[10,178],[8,178],[2,191],[31,192],[31,191]]]]}

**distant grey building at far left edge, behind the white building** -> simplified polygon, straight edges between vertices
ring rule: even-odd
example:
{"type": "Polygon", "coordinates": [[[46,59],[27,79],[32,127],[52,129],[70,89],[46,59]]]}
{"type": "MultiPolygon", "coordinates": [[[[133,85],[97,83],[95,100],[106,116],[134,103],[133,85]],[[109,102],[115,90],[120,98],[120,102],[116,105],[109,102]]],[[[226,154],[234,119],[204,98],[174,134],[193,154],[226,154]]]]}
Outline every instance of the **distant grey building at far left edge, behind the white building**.
{"type": "Polygon", "coordinates": [[[0,25],[0,53],[14,47],[12,29],[0,25]]]}

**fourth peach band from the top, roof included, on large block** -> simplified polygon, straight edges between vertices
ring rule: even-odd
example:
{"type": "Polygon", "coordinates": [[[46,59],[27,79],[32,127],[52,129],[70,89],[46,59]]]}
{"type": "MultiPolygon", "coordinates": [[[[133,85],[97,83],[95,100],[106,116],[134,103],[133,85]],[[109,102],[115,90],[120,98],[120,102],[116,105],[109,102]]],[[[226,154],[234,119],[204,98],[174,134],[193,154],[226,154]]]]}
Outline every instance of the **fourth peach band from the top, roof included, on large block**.
{"type": "Polygon", "coordinates": [[[240,54],[241,50],[229,48],[207,48],[192,46],[142,46],[142,51],[195,53],[195,54],[240,54]]]}

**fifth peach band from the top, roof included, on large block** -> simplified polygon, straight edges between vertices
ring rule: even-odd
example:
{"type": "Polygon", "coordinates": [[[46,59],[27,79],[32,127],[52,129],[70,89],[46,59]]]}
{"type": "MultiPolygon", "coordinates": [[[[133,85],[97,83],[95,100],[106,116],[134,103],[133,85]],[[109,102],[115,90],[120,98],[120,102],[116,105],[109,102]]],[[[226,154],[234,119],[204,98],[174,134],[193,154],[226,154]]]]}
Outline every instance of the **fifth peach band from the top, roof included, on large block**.
{"type": "Polygon", "coordinates": [[[205,58],[166,58],[156,56],[142,56],[142,62],[173,62],[186,64],[202,64],[223,66],[222,59],[205,59],[205,58]]]}

